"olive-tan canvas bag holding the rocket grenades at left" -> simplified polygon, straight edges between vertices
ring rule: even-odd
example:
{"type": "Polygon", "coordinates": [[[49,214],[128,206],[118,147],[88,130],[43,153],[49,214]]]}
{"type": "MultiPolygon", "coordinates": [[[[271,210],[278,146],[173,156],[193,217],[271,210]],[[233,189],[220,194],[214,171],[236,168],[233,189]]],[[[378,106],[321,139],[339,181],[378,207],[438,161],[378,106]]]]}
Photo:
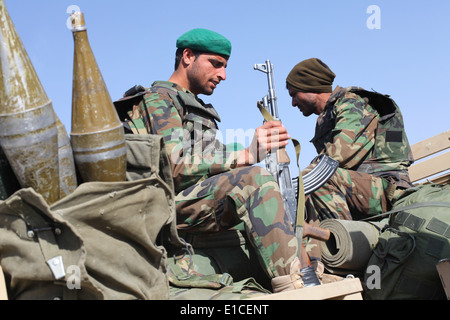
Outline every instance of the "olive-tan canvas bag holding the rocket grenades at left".
{"type": "Polygon", "coordinates": [[[168,156],[160,136],[128,138],[135,181],[84,183],[51,206],[31,188],[0,202],[9,299],[169,298],[166,246],[184,244],[168,156]]]}

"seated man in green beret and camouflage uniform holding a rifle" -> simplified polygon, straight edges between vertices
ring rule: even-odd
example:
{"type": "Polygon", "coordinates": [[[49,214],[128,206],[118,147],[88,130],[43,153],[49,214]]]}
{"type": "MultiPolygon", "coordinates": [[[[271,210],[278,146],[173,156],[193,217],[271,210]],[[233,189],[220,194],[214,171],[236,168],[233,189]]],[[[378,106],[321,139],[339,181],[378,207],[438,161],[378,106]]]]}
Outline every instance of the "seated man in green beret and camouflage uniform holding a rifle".
{"type": "Polygon", "coordinates": [[[269,172],[252,166],[268,150],[287,145],[286,128],[266,122],[244,150],[216,140],[220,117],[198,95],[211,95],[226,79],[231,43],[216,32],[194,29],[176,45],[175,71],[147,90],[129,125],[133,132],[164,137],[179,232],[217,233],[243,222],[274,291],[302,287],[298,242],[279,187],[269,172]]]}

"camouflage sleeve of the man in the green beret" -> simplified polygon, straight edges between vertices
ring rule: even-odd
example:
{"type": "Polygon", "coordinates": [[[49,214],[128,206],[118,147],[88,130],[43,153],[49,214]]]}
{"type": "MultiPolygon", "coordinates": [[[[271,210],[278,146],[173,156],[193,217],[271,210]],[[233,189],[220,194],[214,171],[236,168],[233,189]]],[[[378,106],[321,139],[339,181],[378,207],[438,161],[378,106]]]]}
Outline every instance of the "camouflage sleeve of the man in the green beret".
{"type": "Polygon", "coordinates": [[[178,191],[236,166],[238,151],[227,152],[215,135],[202,132],[202,141],[194,141],[191,131],[183,126],[181,107],[177,108],[169,97],[152,93],[146,95],[144,102],[140,117],[147,132],[164,137],[178,191]]]}

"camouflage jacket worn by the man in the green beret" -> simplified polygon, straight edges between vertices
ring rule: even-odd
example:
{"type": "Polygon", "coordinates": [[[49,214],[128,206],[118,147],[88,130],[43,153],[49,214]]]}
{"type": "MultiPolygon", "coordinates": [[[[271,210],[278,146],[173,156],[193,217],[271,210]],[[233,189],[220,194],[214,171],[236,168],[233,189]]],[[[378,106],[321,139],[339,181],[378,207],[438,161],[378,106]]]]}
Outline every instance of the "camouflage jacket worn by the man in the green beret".
{"type": "Polygon", "coordinates": [[[177,193],[236,166],[238,152],[216,139],[216,110],[175,83],[153,83],[128,116],[138,133],[164,137],[177,193]]]}

